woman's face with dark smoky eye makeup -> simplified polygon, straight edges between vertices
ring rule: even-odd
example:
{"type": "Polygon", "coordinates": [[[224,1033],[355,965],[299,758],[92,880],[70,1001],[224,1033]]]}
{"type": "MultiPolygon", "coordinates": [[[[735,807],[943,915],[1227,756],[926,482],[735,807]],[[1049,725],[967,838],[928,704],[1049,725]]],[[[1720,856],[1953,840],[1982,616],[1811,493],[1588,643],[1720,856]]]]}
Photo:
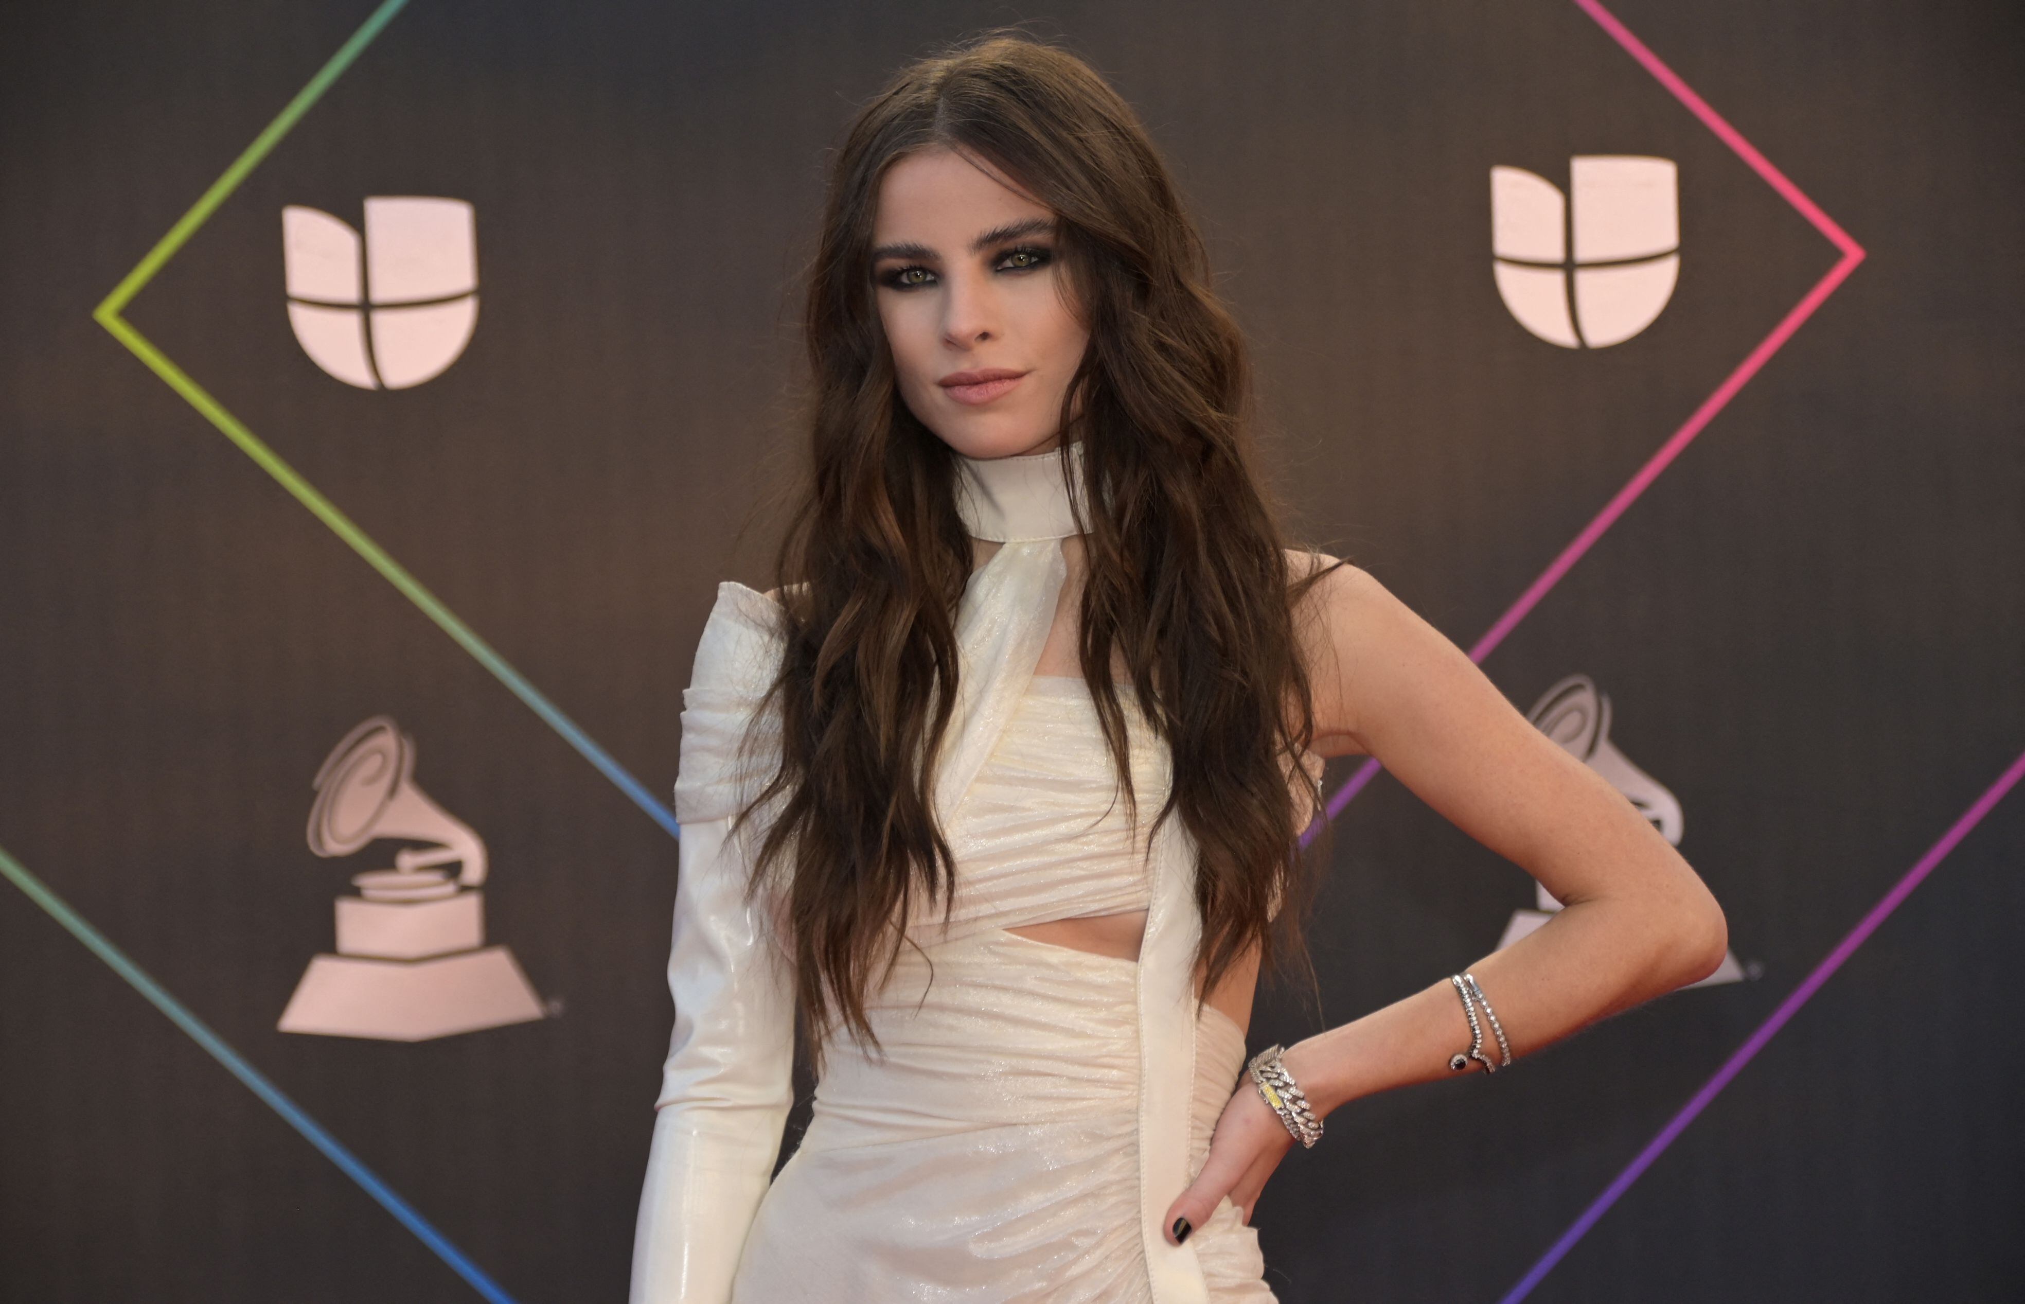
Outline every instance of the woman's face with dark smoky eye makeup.
{"type": "Polygon", "coordinates": [[[966,458],[1041,454],[1089,330],[1055,261],[1055,215],[956,154],[893,164],[873,221],[879,320],[901,399],[966,458]]]}

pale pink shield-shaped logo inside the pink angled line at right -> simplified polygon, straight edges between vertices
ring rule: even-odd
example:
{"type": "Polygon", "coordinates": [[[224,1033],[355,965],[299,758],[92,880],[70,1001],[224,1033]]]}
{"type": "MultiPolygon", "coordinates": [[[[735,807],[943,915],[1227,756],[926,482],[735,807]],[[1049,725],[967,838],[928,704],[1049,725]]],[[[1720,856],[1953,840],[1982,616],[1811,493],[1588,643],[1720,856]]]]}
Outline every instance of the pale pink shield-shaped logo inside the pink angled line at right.
{"type": "Polygon", "coordinates": [[[1490,168],[1490,273],[1519,324],[1549,344],[1622,344],[1658,318],[1681,275],[1679,168],[1577,154],[1567,180],[1563,196],[1525,168],[1490,168]]]}

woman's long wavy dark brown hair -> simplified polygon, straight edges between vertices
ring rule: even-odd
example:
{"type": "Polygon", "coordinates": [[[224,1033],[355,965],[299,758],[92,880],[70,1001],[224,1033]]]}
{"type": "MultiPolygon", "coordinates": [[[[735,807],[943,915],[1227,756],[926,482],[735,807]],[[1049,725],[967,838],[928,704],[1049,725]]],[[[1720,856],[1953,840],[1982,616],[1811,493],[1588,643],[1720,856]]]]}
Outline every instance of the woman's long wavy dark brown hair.
{"type": "Polygon", "coordinates": [[[1081,672],[1128,802],[1114,660],[1170,749],[1154,826],[1179,816],[1199,848],[1203,990],[1251,946],[1266,966],[1304,954],[1296,838],[1320,794],[1298,765],[1314,711],[1294,603],[1316,575],[1294,573],[1249,462],[1243,340],[1126,101],[1075,55],[990,34],[909,65],[857,113],[810,267],[812,468],[778,561],[780,765],[747,814],[774,814],[753,891],[780,883],[818,1063],[838,1025],[877,1045],[869,992],[915,903],[948,911],[956,891],[929,794],[972,547],[954,454],[899,397],[871,265],[879,184],[929,148],[988,162],[1057,219],[1089,326],[1063,403],[1094,504],[1081,672]]]}

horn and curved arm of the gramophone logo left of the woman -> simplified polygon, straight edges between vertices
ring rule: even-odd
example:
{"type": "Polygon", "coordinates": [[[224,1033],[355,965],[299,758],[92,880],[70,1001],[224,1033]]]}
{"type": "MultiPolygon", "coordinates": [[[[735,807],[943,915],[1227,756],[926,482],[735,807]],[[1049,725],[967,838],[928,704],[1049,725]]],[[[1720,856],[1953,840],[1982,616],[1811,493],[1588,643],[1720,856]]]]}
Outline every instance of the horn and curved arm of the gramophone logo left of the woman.
{"type": "Polygon", "coordinates": [[[458,883],[486,881],[486,844],[415,784],[415,741],[391,717],[375,715],[346,733],[316,771],[310,850],[348,857],[375,838],[431,842],[403,848],[395,867],[458,863],[458,883]]]}

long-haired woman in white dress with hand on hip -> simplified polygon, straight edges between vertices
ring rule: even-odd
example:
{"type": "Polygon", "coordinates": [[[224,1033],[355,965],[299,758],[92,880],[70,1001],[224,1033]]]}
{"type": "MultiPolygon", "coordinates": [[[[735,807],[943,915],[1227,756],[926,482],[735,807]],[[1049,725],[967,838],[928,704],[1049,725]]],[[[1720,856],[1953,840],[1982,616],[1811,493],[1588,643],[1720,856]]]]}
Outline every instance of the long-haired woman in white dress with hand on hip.
{"type": "Polygon", "coordinates": [[[721,585],[684,695],[638,1304],[1272,1300],[1251,1209],[1330,1110],[1721,960],[1630,804],[1282,547],[1201,241],[1083,63],[996,36],[873,99],[806,334],[782,585],[721,585]],[[1359,753],[1567,907],[1239,1079],[1320,757],[1359,753]]]}

